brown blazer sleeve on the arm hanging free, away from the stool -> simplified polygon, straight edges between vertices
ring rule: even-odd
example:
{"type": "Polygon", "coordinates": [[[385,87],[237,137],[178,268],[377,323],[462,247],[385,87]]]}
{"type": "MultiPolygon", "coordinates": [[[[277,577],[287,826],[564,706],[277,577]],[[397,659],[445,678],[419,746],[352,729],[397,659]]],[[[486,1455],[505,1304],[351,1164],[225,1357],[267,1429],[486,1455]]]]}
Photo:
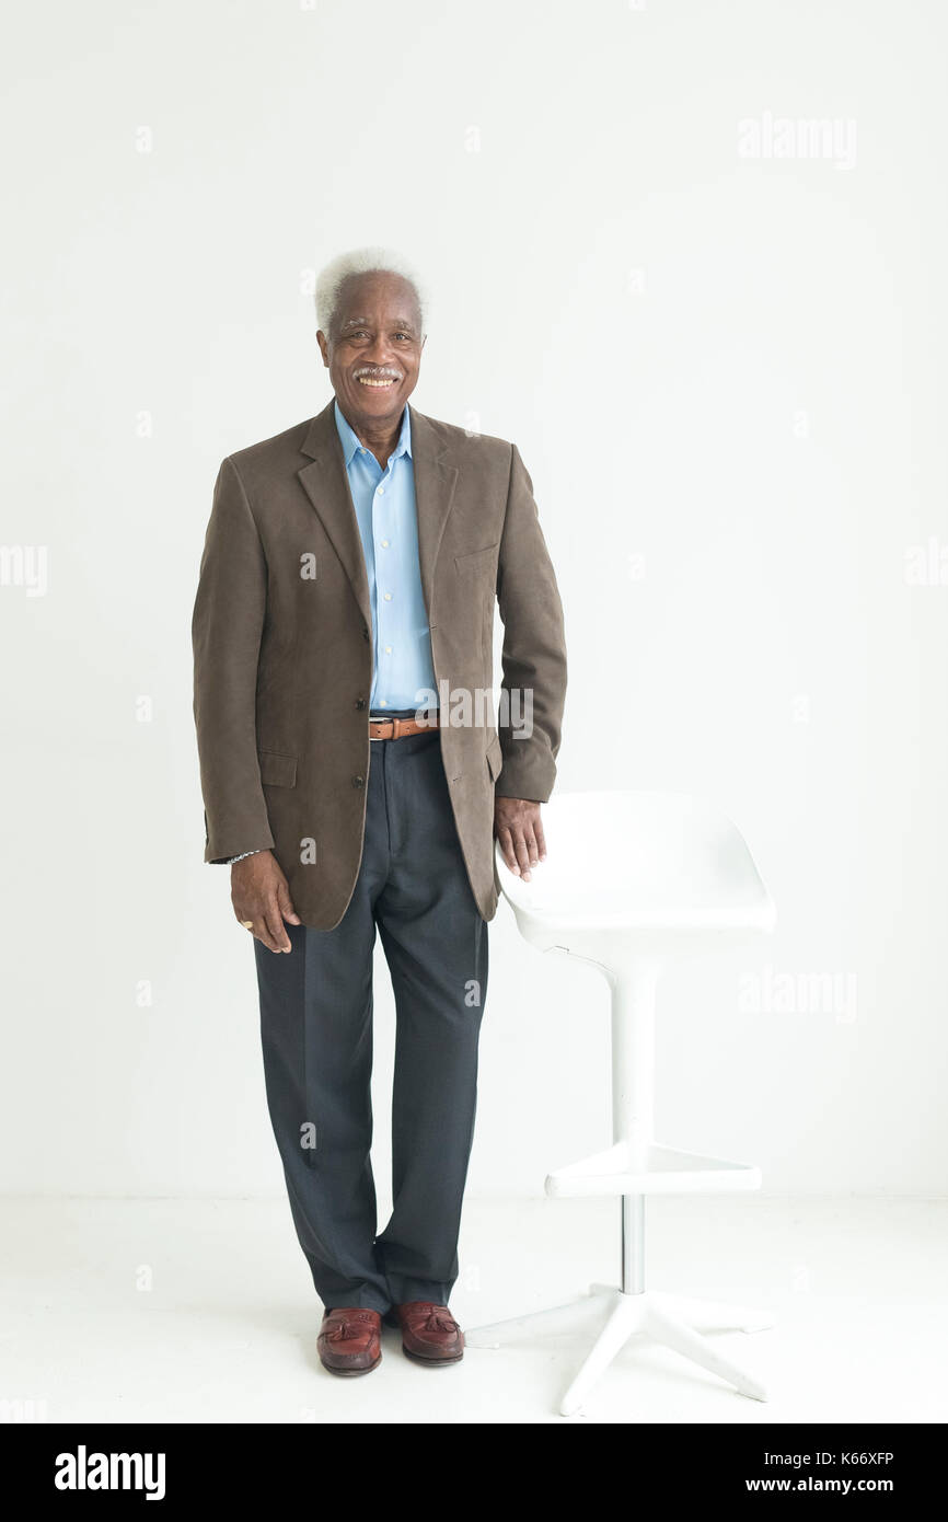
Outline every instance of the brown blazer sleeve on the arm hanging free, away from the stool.
{"type": "Polygon", "coordinates": [[[215,484],[192,618],[205,861],[274,845],[257,759],[265,612],[266,557],[243,482],[227,458],[215,484]]]}

